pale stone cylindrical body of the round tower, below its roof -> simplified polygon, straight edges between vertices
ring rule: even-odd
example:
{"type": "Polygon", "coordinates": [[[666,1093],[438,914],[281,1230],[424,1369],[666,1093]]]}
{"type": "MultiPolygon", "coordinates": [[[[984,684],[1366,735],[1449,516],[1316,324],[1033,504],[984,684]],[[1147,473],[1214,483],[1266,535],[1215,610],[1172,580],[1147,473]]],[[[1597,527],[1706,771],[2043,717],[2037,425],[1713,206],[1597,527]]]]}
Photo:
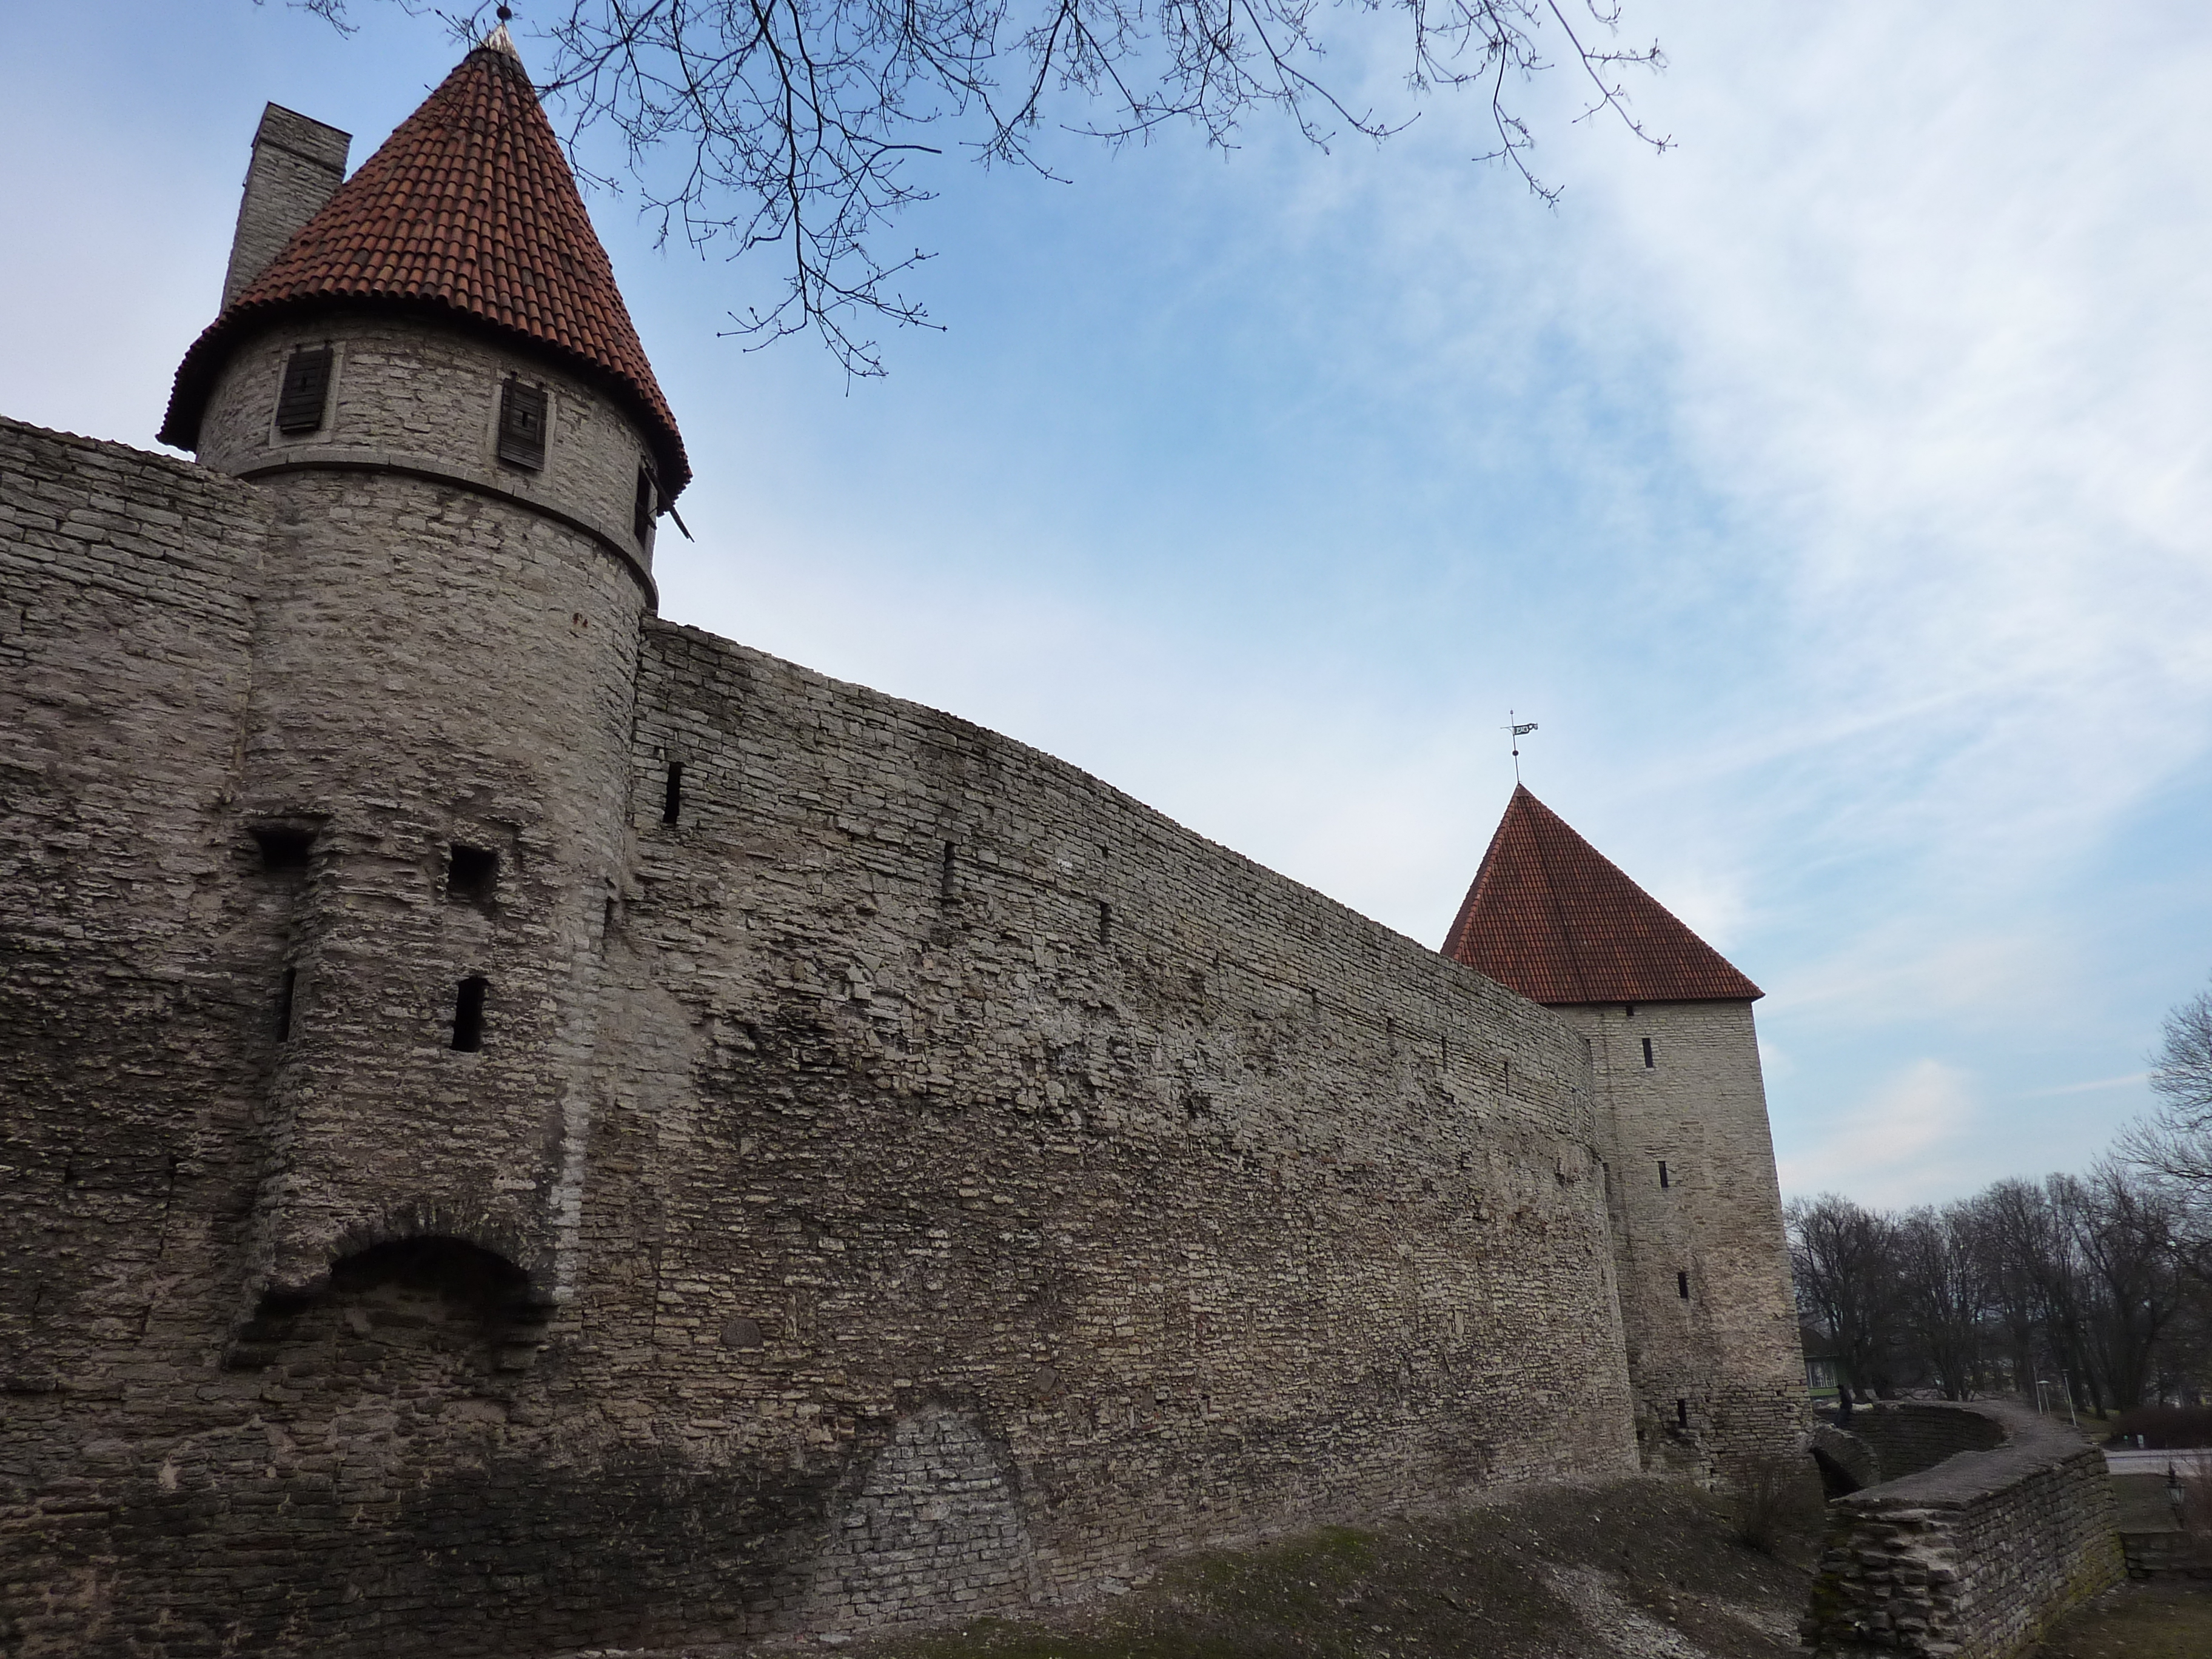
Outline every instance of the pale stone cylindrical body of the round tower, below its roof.
{"type": "MultiPolygon", "coordinates": [[[[239,352],[201,458],[274,500],[239,807],[312,832],[285,927],[254,1279],[312,1292],[434,1228],[546,1298],[584,1159],[599,933],[624,852],[644,453],[573,378],[471,334],[336,316],[239,352]],[[281,365],[336,352],[325,422],[274,429],[281,365]],[[500,465],[500,385],[551,394],[544,467],[500,465]],[[613,535],[628,546],[611,544],[613,535]],[[491,854],[453,891],[453,849],[491,854]],[[462,982],[482,1042],[460,1048],[462,982]],[[363,1137],[363,1124],[380,1124],[363,1137]]],[[[281,1312],[281,1310],[270,1310],[281,1312]]],[[[281,1340],[257,1323],[246,1340],[281,1340]]]]}

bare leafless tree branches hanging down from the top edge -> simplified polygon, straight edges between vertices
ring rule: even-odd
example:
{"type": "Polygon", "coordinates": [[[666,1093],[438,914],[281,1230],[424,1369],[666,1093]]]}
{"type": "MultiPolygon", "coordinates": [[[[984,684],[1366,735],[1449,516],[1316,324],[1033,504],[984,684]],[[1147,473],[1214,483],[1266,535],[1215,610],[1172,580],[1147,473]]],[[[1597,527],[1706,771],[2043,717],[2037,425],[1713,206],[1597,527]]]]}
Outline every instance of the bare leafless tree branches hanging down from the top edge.
{"type": "MultiPolygon", "coordinates": [[[[347,27],[347,0],[292,4],[347,27]]],[[[482,4],[396,4],[462,38],[489,24],[482,4]]],[[[1188,124],[1230,148],[1254,113],[1325,148],[1389,137],[1422,97],[1473,88],[1495,133],[1482,159],[1551,201],[1517,93],[1555,62],[1584,77],[1577,119],[1606,113],[1668,146],[1621,82],[1663,55],[1617,44],[1619,24],[1619,0],[542,0],[515,27],[544,49],[571,155],[586,128],[619,135],[664,239],[781,248],[783,301],[732,312],[739,334],[812,327],[849,374],[880,374],[867,327],[927,321],[900,288],[925,254],[880,252],[929,195],[909,173],[920,153],[1046,173],[1046,131],[1126,144],[1188,124]],[[1323,75],[1340,13],[1402,29],[1405,111],[1352,104],[1323,75]]]]}

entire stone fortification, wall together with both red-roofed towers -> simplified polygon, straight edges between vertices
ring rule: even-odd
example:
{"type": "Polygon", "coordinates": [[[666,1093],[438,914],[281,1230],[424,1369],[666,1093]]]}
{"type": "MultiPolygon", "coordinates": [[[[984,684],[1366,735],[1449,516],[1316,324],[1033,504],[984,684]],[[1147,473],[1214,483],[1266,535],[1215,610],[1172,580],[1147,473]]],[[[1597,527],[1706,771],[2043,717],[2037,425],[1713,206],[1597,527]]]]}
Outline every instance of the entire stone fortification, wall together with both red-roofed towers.
{"type": "Polygon", "coordinates": [[[263,119],[197,462],[0,420],[0,1652],[907,1628],[1794,1442],[1756,987],[1524,792],[1438,953],[661,622],[504,31],[345,148],[263,119]]]}

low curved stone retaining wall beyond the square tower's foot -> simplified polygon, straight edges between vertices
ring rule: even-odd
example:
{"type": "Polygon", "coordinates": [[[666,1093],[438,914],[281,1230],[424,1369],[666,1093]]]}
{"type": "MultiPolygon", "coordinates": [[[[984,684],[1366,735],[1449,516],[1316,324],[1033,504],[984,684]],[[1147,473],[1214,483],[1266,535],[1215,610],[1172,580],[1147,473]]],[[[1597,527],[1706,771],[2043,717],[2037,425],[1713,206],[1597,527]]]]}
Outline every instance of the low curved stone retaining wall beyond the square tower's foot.
{"type": "Polygon", "coordinates": [[[1885,1475],[1918,1471],[1829,1500],[1816,1652],[2011,1659],[2121,1579],[2104,1453],[2073,1429],[1978,1400],[1874,1407],[1851,1433],[1885,1475]]]}

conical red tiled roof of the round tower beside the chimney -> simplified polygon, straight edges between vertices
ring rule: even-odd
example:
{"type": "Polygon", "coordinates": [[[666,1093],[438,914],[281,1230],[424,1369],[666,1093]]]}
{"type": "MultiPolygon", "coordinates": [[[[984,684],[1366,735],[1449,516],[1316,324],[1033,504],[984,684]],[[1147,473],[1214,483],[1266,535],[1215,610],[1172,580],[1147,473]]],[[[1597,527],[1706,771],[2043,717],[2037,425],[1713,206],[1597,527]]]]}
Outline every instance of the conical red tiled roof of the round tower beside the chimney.
{"type": "Polygon", "coordinates": [[[199,418],[239,336],[281,316],[374,305],[535,345],[628,407],[668,495],[690,482],[684,438],[553,124],[513,46],[493,42],[462,58],[192,341],[161,442],[197,447],[199,418]]]}

